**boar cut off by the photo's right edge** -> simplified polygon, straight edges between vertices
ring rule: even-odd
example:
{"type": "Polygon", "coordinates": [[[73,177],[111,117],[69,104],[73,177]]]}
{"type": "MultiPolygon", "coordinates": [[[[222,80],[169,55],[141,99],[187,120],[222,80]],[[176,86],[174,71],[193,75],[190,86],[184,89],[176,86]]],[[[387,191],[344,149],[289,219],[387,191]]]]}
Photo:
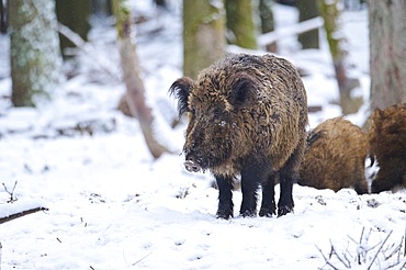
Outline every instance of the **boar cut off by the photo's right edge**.
{"type": "Polygon", "coordinates": [[[370,117],[369,140],[380,168],[371,192],[406,188],[406,103],[375,109],[370,117]]]}

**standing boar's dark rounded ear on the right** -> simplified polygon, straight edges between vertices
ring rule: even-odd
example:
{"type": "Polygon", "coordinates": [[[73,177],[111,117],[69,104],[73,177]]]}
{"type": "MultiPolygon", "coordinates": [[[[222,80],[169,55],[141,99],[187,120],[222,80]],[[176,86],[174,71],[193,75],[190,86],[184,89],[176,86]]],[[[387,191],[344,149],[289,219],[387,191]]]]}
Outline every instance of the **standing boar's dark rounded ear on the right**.
{"type": "Polygon", "coordinates": [[[241,77],[233,85],[230,103],[240,108],[251,101],[256,92],[257,87],[252,79],[249,77],[241,77]]]}

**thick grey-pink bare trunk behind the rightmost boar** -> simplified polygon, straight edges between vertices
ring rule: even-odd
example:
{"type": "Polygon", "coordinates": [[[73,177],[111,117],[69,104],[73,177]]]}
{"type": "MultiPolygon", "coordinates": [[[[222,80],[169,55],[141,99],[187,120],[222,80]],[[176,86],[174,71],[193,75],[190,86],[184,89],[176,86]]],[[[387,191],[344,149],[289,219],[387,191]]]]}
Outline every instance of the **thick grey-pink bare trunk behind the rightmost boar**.
{"type": "Polygon", "coordinates": [[[406,102],[406,1],[369,1],[371,109],[406,102]]]}

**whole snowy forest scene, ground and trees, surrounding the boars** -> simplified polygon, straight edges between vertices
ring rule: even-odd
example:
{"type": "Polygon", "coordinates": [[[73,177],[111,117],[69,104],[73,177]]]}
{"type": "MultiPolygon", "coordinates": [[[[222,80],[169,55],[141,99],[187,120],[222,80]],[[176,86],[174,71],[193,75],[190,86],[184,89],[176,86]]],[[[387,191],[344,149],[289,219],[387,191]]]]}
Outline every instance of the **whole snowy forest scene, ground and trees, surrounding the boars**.
{"type": "Polygon", "coordinates": [[[216,220],[168,95],[227,54],[272,53],[301,72],[309,128],[366,128],[406,102],[405,1],[0,2],[2,269],[406,266],[404,189],[295,185],[294,214],[216,220]]]}

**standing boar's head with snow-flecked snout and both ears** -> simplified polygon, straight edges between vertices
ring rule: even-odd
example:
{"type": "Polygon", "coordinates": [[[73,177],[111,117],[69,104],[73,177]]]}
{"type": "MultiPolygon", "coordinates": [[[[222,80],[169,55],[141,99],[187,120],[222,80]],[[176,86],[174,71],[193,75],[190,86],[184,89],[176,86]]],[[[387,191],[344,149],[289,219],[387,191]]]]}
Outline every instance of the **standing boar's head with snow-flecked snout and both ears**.
{"type": "Polygon", "coordinates": [[[255,78],[247,72],[204,71],[196,81],[178,79],[169,90],[178,99],[179,115],[188,114],[184,166],[193,172],[238,159],[256,97],[255,78]]]}

